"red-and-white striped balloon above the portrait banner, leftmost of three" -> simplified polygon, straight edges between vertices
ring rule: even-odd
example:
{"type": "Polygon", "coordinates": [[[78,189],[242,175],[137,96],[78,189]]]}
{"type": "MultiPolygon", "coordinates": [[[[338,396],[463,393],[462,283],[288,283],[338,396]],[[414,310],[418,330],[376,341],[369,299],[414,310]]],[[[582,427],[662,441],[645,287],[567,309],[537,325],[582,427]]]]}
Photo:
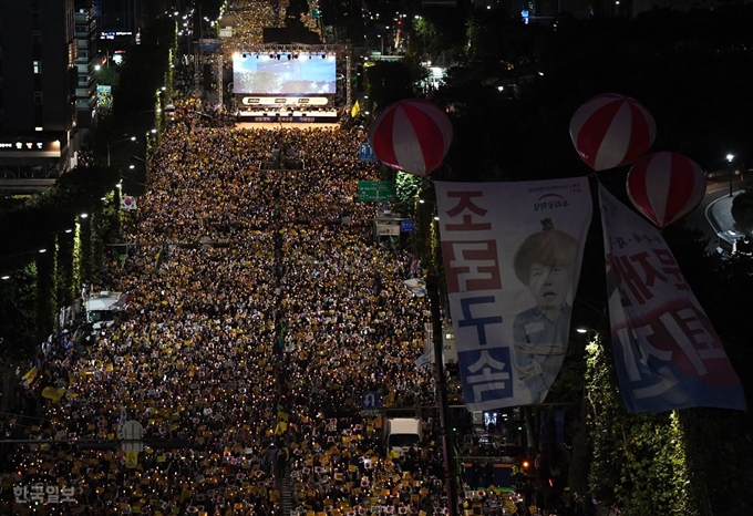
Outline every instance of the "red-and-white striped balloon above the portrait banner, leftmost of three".
{"type": "Polygon", "coordinates": [[[390,104],[369,128],[369,143],[391,168],[426,176],[442,164],[452,143],[452,124],[435,104],[410,99],[390,104]]]}

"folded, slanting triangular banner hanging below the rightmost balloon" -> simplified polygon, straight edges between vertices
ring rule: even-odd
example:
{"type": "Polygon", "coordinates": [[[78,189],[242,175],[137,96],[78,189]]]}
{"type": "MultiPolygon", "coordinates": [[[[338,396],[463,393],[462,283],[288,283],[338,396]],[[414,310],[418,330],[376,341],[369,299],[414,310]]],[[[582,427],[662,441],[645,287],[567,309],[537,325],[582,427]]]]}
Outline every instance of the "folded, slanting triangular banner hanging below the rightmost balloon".
{"type": "Polygon", "coordinates": [[[659,230],[599,186],[617,375],[627,409],[745,410],[724,348],[659,230]]]}

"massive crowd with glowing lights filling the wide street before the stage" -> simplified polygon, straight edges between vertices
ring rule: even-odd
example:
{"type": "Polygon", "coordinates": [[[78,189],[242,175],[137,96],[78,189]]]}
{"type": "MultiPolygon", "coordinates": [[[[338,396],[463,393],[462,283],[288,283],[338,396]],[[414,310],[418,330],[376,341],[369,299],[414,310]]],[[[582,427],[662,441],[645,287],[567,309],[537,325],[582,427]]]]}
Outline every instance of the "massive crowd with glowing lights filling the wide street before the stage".
{"type": "Polygon", "coordinates": [[[435,403],[415,364],[429,307],[403,286],[412,257],[375,239],[374,205],[354,202],[358,180],[375,178],[358,161],[363,140],[179,115],[168,125],[149,188],[124,214],[127,257],[99,286],[131,302],[89,340],[71,328],[50,347],[43,378],[62,396],[18,424],[60,442],[10,452],[7,510],[445,510],[436,421],[401,457],[359,411],[365,391],[435,403]],[[306,168],[260,169],[270,153],[306,168]],[[99,446],[126,421],[143,425],[143,451],[99,446]]]}

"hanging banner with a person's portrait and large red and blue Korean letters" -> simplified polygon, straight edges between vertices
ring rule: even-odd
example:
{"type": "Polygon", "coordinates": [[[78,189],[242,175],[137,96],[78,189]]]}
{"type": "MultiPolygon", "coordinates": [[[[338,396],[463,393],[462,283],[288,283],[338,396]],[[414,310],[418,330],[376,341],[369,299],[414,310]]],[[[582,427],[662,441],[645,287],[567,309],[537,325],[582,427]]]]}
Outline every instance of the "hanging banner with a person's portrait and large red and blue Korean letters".
{"type": "Polygon", "coordinates": [[[563,365],[588,179],[435,183],[468,411],[540,403],[563,365]]]}

